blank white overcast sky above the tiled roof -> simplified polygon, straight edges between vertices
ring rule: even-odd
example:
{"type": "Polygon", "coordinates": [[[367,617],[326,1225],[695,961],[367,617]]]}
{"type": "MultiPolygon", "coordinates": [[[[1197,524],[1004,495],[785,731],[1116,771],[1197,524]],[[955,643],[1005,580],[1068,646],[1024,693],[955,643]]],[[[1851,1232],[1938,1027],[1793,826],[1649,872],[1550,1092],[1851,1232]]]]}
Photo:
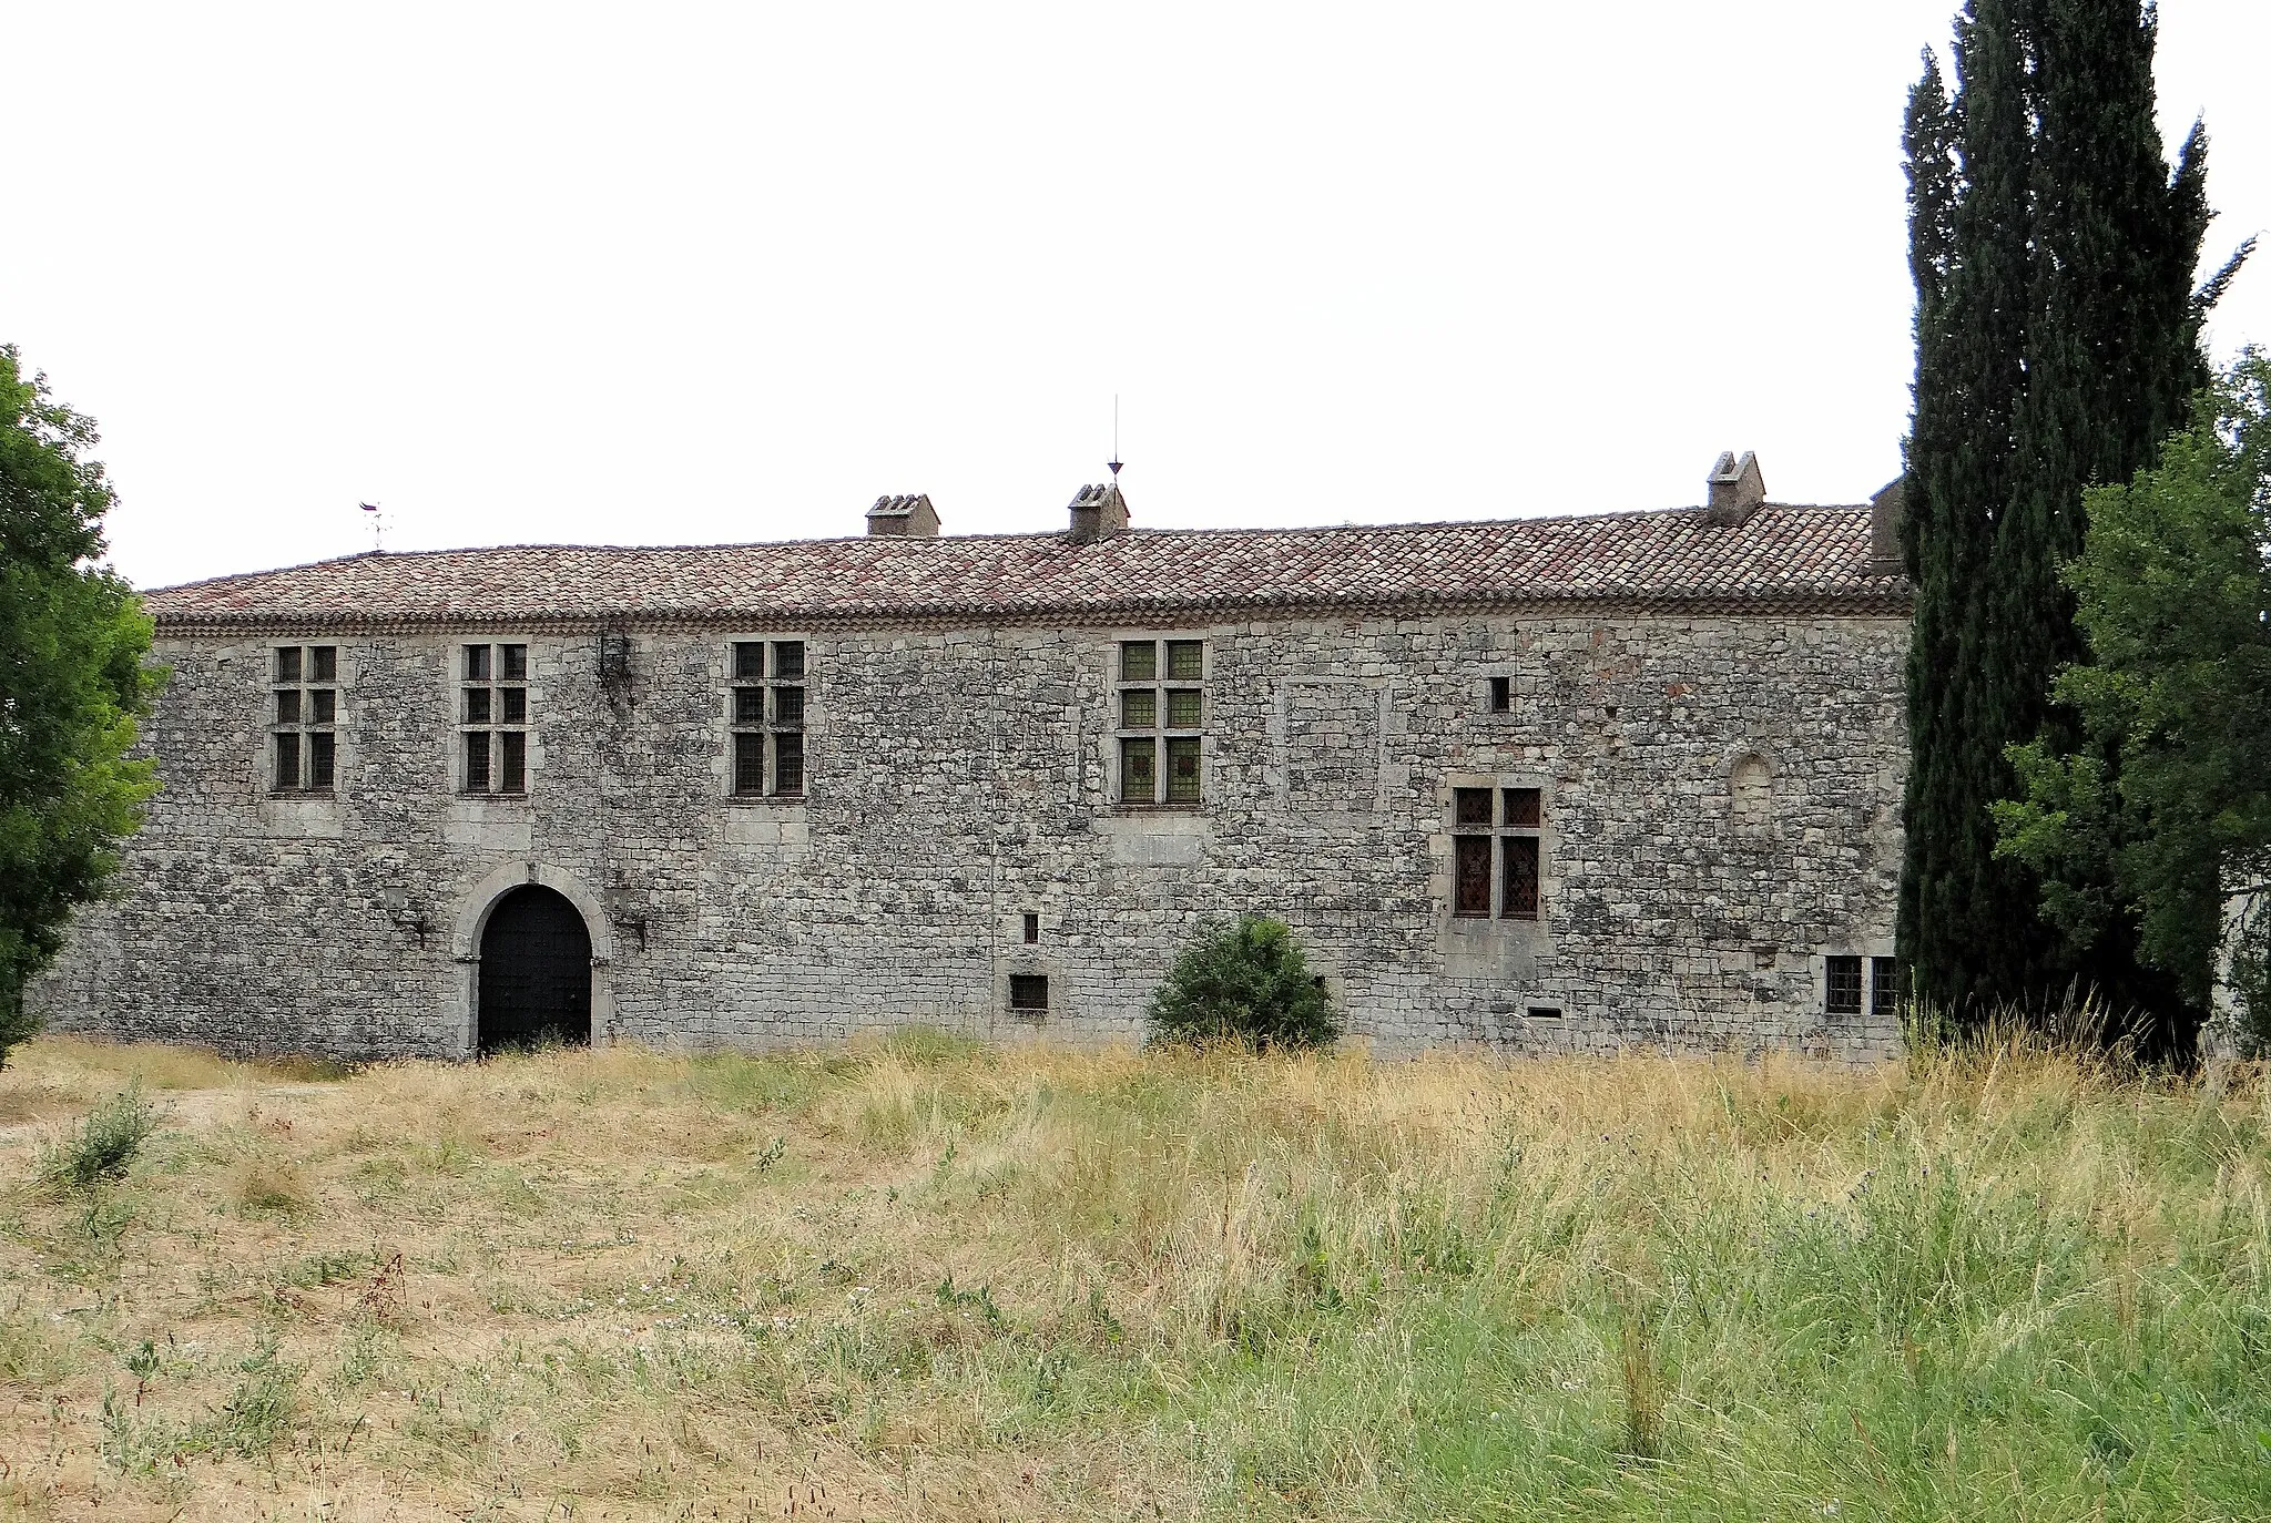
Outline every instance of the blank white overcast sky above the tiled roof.
{"type": "MultiPolygon", "coordinates": [[[[1899,472],[1955,0],[23,5],[0,340],[141,586],[368,549],[1785,502],[1899,472]]],[[[2210,259],[2271,5],[2167,0],[2210,259]]],[[[2271,241],[2266,241],[2271,243],[2271,241]]],[[[2271,343],[2271,250],[2219,354],[2271,343]]]]}

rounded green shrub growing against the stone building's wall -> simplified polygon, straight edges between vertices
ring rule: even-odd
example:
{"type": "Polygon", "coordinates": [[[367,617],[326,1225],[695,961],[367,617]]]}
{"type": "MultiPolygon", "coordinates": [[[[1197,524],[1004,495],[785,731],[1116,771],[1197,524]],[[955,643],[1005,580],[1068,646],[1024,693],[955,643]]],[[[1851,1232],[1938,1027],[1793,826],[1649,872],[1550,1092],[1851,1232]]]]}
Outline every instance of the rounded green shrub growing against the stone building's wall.
{"type": "Polygon", "coordinates": [[[1340,1035],[1324,981],[1292,931],[1267,915],[1208,922],[1151,994],[1156,1042],[1329,1046],[1340,1035]]]}

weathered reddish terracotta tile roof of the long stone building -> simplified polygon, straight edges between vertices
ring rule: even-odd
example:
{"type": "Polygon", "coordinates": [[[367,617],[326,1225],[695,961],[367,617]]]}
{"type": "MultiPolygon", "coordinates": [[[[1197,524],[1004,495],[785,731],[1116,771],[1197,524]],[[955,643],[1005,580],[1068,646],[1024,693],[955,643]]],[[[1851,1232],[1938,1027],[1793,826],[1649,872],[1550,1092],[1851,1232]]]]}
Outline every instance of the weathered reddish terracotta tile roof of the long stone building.
{"type": "Polygon", "coordinates": [[[1721,529],[1699,508],[1349,529],[1136,529],[788,540],[506,545],[363,554],[145,597],[168,633],[322,626],[847,626],[1133,622],[1235,611],[1453,611],[1626,604],[1905,615],[1869,561],[1869,508],[1767,504],[1721,529]]]}

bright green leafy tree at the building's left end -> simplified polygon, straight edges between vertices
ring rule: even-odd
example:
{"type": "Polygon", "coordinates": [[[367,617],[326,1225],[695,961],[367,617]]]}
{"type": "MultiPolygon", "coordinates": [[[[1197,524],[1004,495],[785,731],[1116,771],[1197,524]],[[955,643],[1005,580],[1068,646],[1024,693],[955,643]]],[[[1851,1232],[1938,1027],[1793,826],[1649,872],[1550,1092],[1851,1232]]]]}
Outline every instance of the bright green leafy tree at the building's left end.
{"type": "Polygon", "coordinates": [[[150,620],[95,565],[111,488],[93,445],[93,422],[0,345],[0,1065],[32,1033],[25,983],[154,790],[129,758],[159,681],[150,620]]]}

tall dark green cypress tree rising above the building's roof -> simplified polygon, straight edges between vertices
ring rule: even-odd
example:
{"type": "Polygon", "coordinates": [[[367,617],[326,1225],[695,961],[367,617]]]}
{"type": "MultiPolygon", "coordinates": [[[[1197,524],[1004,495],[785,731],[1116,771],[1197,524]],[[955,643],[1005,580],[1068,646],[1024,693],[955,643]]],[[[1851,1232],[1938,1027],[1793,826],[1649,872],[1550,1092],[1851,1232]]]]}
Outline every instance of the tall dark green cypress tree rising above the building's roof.
{"type": "Polygon", "coordinates": [[[1980,1012],[2087,985],[2185,1012],[2135,962],[2135,926],[2060,942],[2039,885],[1994,856],[1987,806],[2014,792],[2005,747],[2048,733],[2055,670],[2083,656],[2060,565],[2083,488],[2155,461],[2205,384],[2192,291],[2207,229],[2205,134],[2171,173],[2153,123],[2153,9],[2137,0],[1971,0],[1958,89],[1910,95],[1917,413],[1908,440],[1908,860],[1901,951],[1917,990],[1980,1012]],[[1937,250],[1937,254],[1935,254],[1937,250]]]}

